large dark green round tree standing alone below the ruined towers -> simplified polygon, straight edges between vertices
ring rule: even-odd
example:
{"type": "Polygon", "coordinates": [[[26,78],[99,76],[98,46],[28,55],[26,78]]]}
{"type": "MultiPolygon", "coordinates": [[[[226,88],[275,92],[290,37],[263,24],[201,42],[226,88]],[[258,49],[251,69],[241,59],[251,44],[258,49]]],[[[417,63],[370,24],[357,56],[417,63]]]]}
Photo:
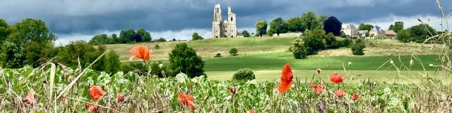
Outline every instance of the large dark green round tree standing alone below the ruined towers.
{"type": "Polygon", "coordinates": [[[206,76],[204,73],[204,61],[196,55],[196,50],[186,43],[177,44],[169,53],[169,66],[173,72],[186,73],[190,78],[206,76]]]}

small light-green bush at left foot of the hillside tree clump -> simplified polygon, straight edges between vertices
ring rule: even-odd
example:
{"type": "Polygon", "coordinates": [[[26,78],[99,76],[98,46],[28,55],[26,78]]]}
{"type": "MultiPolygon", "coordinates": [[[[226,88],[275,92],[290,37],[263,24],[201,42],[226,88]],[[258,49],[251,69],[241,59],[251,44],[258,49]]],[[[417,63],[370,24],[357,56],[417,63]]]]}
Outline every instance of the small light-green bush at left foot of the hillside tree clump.
{"type": "Polygon", "coordinates": [[[303,40],[299,38],[292,42],[292,46],[290,46],[289,51],[292,52],[295,59],[302,59],[308,55],[306,47],[304,47],[303,40]]]}

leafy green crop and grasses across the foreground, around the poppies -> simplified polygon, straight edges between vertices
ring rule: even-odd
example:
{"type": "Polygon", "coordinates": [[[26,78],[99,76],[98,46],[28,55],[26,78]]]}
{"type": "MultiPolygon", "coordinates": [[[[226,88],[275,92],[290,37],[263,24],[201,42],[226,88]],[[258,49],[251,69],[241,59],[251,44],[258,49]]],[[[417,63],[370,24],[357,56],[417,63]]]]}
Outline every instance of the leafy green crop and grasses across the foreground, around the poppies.
{"type": "MultiPolygon", "coordinates": [[[[0,111],[88,112],[85,102],[102,106],[98,112],[112,112],[113,109],[119,112],[191,111],[177,100],[179,91],[194,96],[195,112],[246,112],[249,109],[256,112],[446,112],[452,102],[451,89],[432,78],[424,78],[422,83],[399,84],[352,79],[353,75],[350,75],[345,76],[349,82],[343,84],[323,80],[328,92],[320,95],[314,93],[309,81],[295,78],[291,90],[281,95],[277,90],[278,81],[211,81],[203,77],[188,78],[183,73],[174,78],[157,78],[138,76],[136,72],[109,75],[88,70],[54,106],[51,98],[61,94],[78,72],[59,67],[54,71],[52,68],[32,69],[29,66],[4,69],[0,71],[0,93],[6,96],[0,97],[4,100],[0,102],[3,108],[0,111]],[[55,72],[53,83],[49,78],[52,72],[55,72]],[[97,102],[88,94],[92,85],[105,90],[104,97],[97,102]],[[52,87],[54,93],[49,95],[52,87]],[[348,94],[336,97],[330,90],[338,88],[348,94]],[[35,93],[36,102],[25,105],[23,100],[28,93],[35,93]],[[122,102],[117,98],[119,93],[124,95],[122,102]],[[359,99],[352,100],[352,93],[358,93],[359,99]]],[[[313,74],[313,77],[326,74],[331,73],[313,74]]]]}

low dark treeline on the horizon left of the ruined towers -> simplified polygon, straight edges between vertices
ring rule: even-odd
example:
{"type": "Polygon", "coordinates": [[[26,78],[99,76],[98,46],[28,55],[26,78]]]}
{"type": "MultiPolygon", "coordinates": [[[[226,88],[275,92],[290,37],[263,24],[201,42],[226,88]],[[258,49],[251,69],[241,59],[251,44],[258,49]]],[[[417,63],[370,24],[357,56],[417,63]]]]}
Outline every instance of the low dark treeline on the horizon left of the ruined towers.
{"type": "Polygon", "coordinates": [[[116,34],[108,36],[106,34],[95,35],[90,44],[126,44],[132,42],[151,42],[153,39],[150,33],[143,28],[138,30],[121,30],[119,37],[116,34]]]}

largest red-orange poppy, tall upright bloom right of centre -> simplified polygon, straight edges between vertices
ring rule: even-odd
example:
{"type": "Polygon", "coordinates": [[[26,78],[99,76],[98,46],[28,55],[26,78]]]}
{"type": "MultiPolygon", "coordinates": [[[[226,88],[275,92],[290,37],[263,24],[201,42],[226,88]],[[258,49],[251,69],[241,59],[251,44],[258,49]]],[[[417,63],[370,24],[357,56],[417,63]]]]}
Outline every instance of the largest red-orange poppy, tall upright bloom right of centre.
{"type": "Polygon", "coordinates": [[[292,85],[292,78],[294,78],[294,76],[292,74],[292,70],[290,69],[290,65],[285,64],[283,67],[283,73],[281,73],[281,82],[278,86],[278,91],[281,94],[284,94],[290,89],[290,85],[292,85]]]}

